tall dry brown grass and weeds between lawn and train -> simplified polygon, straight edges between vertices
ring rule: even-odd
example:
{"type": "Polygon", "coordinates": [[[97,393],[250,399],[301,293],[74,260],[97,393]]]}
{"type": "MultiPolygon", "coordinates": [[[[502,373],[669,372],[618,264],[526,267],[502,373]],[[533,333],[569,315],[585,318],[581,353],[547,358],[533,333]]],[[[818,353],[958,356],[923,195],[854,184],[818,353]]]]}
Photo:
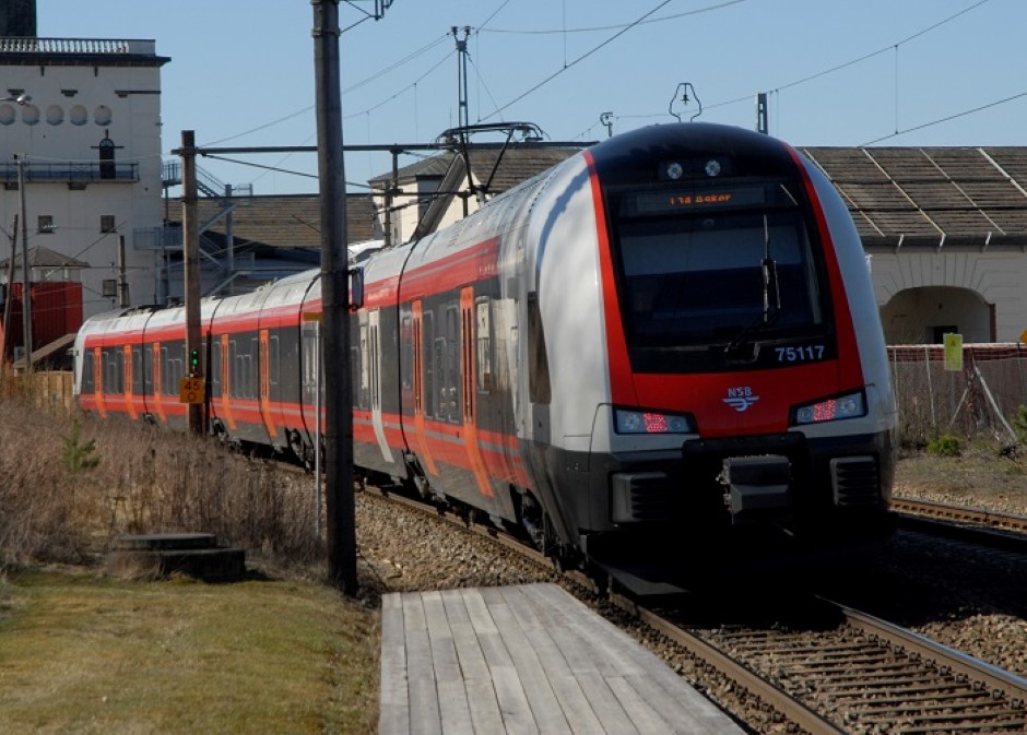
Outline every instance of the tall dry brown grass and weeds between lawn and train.
{"type": "Polygon", "coordinates": [[[0,568],[88,562],[117,534],[180,531],[315,573],[323,564],[312,485],[216,442],[7,399],[0,448],[0,568]]]}

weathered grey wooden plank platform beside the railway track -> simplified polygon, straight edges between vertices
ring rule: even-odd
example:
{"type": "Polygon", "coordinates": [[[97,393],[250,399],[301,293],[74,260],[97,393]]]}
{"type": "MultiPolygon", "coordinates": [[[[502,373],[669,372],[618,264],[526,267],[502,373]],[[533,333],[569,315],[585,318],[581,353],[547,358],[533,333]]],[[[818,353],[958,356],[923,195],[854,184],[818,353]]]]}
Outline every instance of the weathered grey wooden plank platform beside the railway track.
{"type": "Polygon", "coordinates": [[[380,735],[742,733],[555,584],[389,594],[380,735]]]}

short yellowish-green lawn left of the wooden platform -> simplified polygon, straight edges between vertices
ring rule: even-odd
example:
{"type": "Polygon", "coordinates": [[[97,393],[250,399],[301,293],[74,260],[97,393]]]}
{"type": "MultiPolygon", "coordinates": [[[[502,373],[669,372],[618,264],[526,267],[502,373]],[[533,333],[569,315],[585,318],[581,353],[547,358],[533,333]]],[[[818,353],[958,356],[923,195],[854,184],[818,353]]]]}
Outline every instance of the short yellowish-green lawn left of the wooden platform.
{"type": "Polygon", "coordinates": [[[323,585],[0,583],[0,732],[371,733],[377,614],[323,585]]]}

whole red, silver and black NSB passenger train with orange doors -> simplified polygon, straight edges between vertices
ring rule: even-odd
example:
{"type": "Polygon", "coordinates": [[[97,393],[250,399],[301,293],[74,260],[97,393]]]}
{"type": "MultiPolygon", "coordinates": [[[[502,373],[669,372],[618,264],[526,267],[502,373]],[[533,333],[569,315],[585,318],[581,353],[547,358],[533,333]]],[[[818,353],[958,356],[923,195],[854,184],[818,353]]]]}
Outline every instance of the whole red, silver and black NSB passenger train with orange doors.
{"type": "MultiPolygon", "coordinates": [[[[366,254],[366,253],[365,253],[366,254]]],[[[870,265],[823,171],[770,135],[612,137],[357,263],[356,472],[563,564],[774,527],[877,536],[896,408],[870,265]]],[[[319,271],[201,301],[212,434],[309,462],[319,271]]],[[[182,427],[181,307],[74,344],[82,410],[182,427]]]]}

